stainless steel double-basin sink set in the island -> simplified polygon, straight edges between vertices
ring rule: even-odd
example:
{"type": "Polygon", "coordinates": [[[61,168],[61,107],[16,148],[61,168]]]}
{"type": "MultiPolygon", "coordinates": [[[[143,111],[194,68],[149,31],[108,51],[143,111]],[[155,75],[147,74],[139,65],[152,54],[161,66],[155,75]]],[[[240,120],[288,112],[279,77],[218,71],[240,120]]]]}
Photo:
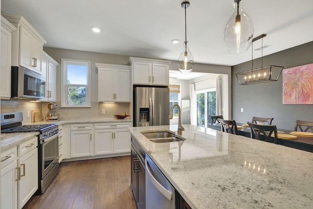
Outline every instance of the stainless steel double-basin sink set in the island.
{"type": "Polygon", "coordinates": [[[145,136],[146,138],[148,138],[150,141],[155,142],[155,143],[165,143],[165,142],[185,140],[167,131],[143,132],[141,134],[145,136]]]}

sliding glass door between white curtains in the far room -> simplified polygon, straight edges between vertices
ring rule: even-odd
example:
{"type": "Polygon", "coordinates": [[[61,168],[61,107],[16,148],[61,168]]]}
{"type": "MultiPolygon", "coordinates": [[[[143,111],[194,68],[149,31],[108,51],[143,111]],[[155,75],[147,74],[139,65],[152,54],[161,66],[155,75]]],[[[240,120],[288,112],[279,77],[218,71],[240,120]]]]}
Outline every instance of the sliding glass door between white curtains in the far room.
{"type": "Polygon", "coordinates": [[[196,92],[197,96],[197,126],[207,128],[211,122],[210,116],[216,115],[216,88],[196,92]]]}

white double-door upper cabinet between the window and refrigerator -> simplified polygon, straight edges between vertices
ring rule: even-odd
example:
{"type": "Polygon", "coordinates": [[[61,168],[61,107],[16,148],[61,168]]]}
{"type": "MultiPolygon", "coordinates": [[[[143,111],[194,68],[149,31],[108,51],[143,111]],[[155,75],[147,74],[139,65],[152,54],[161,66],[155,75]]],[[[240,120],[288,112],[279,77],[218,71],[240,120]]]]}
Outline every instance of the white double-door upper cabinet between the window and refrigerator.
{"type": "Polygon", "coordinates": [[[131,101],[131,67],[96,63],[98,102],[131,101]]]}

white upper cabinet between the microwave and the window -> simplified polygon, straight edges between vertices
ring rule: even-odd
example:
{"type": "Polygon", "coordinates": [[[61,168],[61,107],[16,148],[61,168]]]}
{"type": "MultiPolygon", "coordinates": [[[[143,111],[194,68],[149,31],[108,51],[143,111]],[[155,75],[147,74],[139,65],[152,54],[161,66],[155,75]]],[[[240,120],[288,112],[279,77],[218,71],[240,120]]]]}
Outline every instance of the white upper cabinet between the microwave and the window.
{"type": "Polygon", "coordinates": [[[45,80],[45,98],[40,101],[55,102],[56,101],[56,79],[57,79],[57,63],[45,51],[43,52],[42,73],[46,76],[45,80]]]}

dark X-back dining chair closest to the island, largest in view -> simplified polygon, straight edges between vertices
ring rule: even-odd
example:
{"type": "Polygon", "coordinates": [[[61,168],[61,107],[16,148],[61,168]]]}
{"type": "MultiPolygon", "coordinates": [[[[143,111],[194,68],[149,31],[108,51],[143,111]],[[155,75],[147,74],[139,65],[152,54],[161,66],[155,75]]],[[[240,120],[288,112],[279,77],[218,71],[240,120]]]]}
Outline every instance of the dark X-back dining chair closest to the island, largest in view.
{"type": "Polygon", "coordinates": [[[260,125],[248,122],[250,127],[251,139],[270,141],[271,135],[274,133],[274,143],[278,144],[277,128],[275,125],[260,125]]]}

